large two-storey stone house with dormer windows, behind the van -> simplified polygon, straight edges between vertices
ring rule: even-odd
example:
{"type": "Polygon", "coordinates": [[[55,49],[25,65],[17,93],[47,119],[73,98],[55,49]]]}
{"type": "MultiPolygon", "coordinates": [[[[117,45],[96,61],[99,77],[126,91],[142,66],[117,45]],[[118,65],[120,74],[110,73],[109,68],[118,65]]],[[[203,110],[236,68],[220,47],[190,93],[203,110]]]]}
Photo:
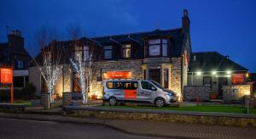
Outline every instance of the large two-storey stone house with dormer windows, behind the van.
{"type": "MultiPolygon", "coordinates": [[[[79,53],[88,61],[90,53],[94,62],[101,65],[96,70],[90,86],[90,95],[102,95],[102,80],[149,79],[159,82],[183,96],[183,86],[188,84],[188,67],[191,53],[188,11],[183,11],[182,27],[171,30],[154,30],[123,35],[81,38],[79,46],[72,41],[55,42],[62,48],[62,71],[55,86],[55,93],[81,92],[77,73],[71,68],[69,58],[79,53]],[[92,46],[96,46],[92,48],[92,46]]],[[[40,63],[42,55],[36,60],[40,63]]],[[[45,82],[38,67],[31,64],[29,81],[37,88],[37,95],[45,92],[45,82]]]]}

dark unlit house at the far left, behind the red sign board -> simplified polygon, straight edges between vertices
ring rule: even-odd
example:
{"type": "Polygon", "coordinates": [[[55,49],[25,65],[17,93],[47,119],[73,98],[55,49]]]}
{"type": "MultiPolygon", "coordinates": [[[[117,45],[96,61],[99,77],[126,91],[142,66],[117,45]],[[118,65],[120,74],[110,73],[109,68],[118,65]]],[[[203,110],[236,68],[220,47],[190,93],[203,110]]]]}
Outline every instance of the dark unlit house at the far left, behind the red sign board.
{"type": "MultiPolygon", "coordinates": [[[[0,67],[12,67],[14,69],[14,87],[20,90],[28,82],[28,64],[32,57],[24,47],[24,38],[21,31],[10,31],[8,42],[0,43],[0,67]]],[[[0,88],[3,92],[5,88],[0,88]]],[[[0,90],[0,92],[1,92],[0,90]]]]}

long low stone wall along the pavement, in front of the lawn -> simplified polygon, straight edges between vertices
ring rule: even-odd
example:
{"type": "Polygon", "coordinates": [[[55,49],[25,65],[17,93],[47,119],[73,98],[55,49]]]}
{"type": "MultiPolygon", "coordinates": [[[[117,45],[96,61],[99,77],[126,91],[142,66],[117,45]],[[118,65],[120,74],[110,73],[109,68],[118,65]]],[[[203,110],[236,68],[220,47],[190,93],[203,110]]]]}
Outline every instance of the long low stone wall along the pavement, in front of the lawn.
{"type": "Polygon", "coordinates": [[[209,114],[198,112],[165,111],[152,109],[119,108],[64,108],[66,113],[78,117],[114,120],[150,120],[188,124],[232,125],[256,127],[256,116],[246,114],[209,114]]]}

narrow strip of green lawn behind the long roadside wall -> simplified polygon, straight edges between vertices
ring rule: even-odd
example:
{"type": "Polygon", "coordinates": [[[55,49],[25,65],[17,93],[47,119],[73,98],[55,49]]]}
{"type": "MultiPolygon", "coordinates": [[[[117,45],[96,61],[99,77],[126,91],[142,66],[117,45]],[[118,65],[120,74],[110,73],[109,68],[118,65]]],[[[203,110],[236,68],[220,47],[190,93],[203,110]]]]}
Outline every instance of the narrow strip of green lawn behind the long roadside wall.
{"type": "MultiPolygon", "coordinates": [[[[196,112],[222,112],[222,113],[239,113],[244,114],[245,108],[234,106],[186,106],[180,108],[163,107],[158,108],[155,106],[97,106],[100,108],[141,108],[141,109],[159,109],[159,110],[180,110],[180,111],[196,111],[196,112]]],[[[250,114],[256,114],[256,108],[250,108],[250,114]]]]}

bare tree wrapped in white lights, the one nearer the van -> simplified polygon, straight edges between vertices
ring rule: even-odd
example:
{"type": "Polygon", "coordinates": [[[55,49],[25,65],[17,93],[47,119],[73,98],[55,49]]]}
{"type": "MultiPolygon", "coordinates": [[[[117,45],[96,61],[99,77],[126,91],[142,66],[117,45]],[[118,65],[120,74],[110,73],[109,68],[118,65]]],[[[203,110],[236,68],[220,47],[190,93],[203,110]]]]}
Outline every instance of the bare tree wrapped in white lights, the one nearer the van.
{"type": "MultiPolygon", "coordinates": [[[[83,95],[83,103],[88,103],[88,92],[93,82],[99,64],[95,62],[99,58],[100,49],[96,47],[96,41],[90,38],[81,39],[81,27],[79,25],[69,25],[67,33],[73,42],[73,57],[70,62],[73,69],[79,75],[79,86],[83,95]],[[81,53],[79,53],[82,51],[81,53]]],[[[97,44],[98,46],[99,44],[97,44]]]]}

